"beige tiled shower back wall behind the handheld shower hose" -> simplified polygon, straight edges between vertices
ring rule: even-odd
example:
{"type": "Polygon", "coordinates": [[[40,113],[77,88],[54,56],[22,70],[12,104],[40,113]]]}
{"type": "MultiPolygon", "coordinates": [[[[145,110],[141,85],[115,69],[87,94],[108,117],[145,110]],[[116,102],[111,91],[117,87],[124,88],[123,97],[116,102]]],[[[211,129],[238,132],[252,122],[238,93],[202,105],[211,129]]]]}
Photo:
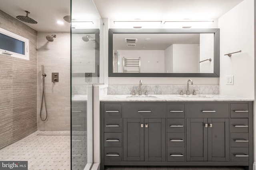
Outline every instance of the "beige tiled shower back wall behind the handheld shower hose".
{"type": "MultiPolygon", "coordinates": [[[[38,130],[70,130],[70,33],[38,32],[38,130]],[[53,42],[47,35],[56,35],[53,42]],[[40,119],[42,71],[44,65],[47,121],[40,119]],[[59,73],[59,82],[52,83],[52,72],[59,73]]],[[[43,105],[42,116],[46,111],[43,105]]]]}

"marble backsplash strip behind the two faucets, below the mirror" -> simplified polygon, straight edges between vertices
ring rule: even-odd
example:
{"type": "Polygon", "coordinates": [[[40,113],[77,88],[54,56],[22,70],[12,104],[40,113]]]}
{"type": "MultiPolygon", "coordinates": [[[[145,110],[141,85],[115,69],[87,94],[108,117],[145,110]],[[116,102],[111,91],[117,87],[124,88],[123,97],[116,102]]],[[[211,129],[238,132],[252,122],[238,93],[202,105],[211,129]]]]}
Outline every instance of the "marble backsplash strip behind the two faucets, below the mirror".
{"type": "MultiPolygon", "coordinates": [[[[132,94],[135,90],[135,94],[138,95],[139,86],[108,86],[108,94],[132,94]]],[[[180,90],[183,90],[186,94],[186,85],[142,85],[142,94],[145,91],[148,94],[180,94],[180,90]]],[[[196,94],[219,94],[219,85],[189,85],[190,94],[193,90],[197,90],[196,94]]]]}

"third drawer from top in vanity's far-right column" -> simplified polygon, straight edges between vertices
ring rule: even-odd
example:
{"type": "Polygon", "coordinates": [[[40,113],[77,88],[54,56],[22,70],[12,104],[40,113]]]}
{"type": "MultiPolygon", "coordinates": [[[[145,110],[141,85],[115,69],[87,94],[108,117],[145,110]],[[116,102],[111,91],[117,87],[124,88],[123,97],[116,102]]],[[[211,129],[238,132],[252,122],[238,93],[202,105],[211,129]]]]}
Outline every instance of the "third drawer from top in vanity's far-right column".
{"type": "Polygon", "coordinates": [[[231,147],[248,147],[248,133],[231,133],[231,147]]]}

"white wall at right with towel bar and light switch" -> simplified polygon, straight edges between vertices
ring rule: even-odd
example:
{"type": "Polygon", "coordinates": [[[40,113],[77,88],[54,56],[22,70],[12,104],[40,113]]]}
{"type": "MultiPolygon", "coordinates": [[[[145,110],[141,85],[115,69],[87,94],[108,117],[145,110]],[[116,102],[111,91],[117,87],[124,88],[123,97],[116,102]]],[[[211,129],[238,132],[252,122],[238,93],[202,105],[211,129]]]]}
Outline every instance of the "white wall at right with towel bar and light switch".
{"type": "Polygon", "coordinates": [[[220,17],[219,28],[220,94],[254,99],[254,0],[244,0],[220,17]],[[234,76],[234,85],[226,85],[226,76],[234,76]]]}

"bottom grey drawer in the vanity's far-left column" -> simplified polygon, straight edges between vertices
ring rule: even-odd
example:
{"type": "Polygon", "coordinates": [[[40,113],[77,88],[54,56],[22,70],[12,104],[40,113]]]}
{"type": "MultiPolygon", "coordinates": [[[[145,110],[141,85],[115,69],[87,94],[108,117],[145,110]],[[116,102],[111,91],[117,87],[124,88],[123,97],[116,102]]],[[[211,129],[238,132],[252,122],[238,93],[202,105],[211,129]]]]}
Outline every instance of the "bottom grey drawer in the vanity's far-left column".
{"type": "Polygon", "coordinates": [[[104,161],[121,161],[121,147],[104,147],[104,161]]]}

